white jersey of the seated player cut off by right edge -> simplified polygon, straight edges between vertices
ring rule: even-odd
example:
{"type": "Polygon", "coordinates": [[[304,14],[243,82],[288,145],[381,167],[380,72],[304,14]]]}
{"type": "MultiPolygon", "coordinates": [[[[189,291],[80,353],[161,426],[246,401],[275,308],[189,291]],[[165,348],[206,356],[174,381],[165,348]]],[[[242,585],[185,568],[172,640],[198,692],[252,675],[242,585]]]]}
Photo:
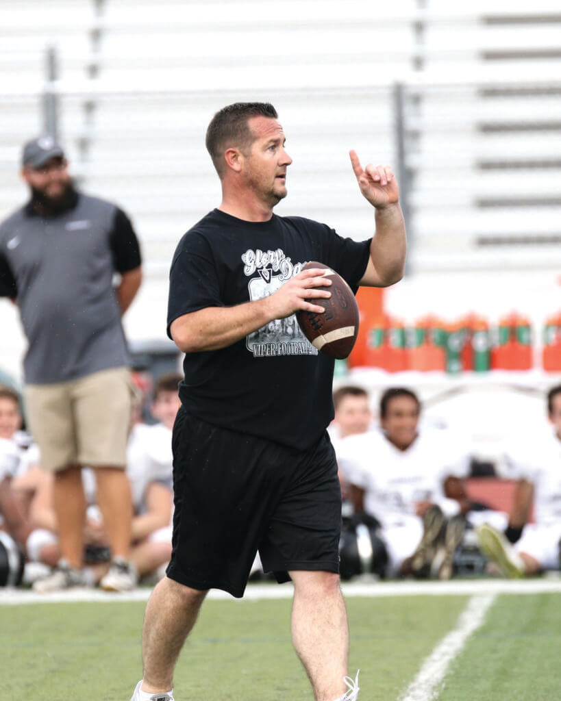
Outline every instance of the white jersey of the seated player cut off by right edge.
{"type": "Polygon", "coordinates": [[[534,484],[536,524],[561,524],[561,439],[548,431],[508,451],[515,479],[534,484]]]}

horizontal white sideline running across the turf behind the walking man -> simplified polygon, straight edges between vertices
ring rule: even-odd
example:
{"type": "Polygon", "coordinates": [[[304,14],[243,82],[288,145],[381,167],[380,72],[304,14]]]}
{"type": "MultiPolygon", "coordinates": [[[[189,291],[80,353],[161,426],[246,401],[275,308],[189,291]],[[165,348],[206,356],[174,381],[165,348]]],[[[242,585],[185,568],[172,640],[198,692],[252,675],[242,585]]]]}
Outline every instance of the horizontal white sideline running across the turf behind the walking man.
{"type": "MultiPolygon", "coordinates": [[[[451,582],[353,582],[342,586],[346,597],[415,597],[415,596],[473,596],[475,594],[541,594],[561,593],[561,579],[529,580],[452,580],[451,582]]],[[[245,590],[245,600],[290,599],[292,586],[251,584],[245,590]]],[[[46,604],[60,601],[146,601],[149,588],[126,594],[111,594],[96,589],[75,589],[51,594],[36,594],[30,590],[0,589],[0,606],[46,604]]],[[[226,592],[212,590],[209,599],[234,599],[226,592]]]]}

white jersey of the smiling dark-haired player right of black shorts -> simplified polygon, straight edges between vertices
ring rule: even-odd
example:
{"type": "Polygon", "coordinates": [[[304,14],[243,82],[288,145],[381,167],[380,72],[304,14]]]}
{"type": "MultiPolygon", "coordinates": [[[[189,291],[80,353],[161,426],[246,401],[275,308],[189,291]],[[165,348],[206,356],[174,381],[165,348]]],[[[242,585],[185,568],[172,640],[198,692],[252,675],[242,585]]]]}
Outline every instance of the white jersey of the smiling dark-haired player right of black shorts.
{"type": "Polygon", "coordinates": [[[423,431],[405,451],[381,431],[349,436],[337,449],[345,479],[365,490],[365,511],[382,526],[414,515],[420,501],[438,503],[448,515],[459,510],[457,502],[445,497],[443,482],[468,475],[469,454],[446,431],[423,431]]]}

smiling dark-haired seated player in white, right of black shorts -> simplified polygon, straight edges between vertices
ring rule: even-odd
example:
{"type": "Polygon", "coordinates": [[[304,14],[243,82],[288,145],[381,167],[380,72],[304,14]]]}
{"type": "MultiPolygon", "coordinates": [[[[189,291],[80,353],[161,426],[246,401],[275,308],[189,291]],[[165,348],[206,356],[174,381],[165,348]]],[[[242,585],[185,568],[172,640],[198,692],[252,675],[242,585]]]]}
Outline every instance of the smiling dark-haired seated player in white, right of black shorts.
{"type": "Polygon", "coordinates": [[[381,430],[339,444],[339,466],[356,513],[380,524],[388,575],[452,576],[471,502],[464,489],[468,451],[445,431],[419,431],[421,404],[411,390],[381,396],[381,430]]]}

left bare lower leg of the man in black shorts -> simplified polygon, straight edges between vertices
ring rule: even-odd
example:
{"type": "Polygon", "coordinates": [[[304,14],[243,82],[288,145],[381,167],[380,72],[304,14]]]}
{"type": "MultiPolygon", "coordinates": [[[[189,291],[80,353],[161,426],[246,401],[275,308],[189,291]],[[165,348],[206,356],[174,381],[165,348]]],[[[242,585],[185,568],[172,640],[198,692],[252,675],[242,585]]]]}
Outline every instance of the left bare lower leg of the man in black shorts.
{"type": "Polygon", "coordinates": [[[169,691],[184,641],[195,625],[207,592],[164,577],[148,599],[142,630],[142,690],[169,691]]]}

